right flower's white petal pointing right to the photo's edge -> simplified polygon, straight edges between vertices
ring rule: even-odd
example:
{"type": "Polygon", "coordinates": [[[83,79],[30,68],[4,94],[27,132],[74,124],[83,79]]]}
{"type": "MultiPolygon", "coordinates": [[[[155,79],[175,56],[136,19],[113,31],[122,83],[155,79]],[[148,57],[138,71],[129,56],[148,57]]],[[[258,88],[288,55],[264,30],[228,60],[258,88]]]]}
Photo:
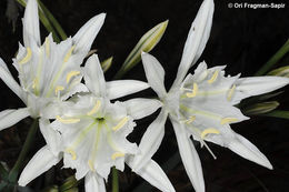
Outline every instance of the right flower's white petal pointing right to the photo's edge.
{"type": "Polygon", "coordinates": [[[245,98],[275,91],[287,84],[289,84],[289,78],[282,77],[241,78],[237,81],[232,103],[236,104],[245,98]]]}

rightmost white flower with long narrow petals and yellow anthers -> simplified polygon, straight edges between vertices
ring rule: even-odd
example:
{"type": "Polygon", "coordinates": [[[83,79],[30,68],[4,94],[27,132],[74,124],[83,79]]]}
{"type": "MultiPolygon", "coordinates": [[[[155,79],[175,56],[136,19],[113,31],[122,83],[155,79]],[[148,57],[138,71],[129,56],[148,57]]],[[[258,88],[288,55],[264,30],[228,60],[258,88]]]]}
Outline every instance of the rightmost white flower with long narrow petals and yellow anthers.
{"type": "Polygon", "coordinates": [[[148,82],[163,102],[163,108],[146,131],[139,145],[141,153],[132,162],[133,170],[141,169],[155,154],[162,141],[165,122],[169,115],[185,169],[198,192],[205,191],[205,182],[191,135],[209,151],[206,141],[229,148],[250,161],[272,169],[252,143],[230,129],[231,123],[248,119],[233,105],[245,98],[270,92],[289,83],[287,78],[279,77],[225,77],[225,67],[207,69],[205,62],[199,64],[193,75],[188,74],[209,39],[212,13],[213,1],[205,0],[192,22],[177,78],[169,92],[163,85],[165,70],[161,64],[152,55],[142,53],[148,82]]]}

